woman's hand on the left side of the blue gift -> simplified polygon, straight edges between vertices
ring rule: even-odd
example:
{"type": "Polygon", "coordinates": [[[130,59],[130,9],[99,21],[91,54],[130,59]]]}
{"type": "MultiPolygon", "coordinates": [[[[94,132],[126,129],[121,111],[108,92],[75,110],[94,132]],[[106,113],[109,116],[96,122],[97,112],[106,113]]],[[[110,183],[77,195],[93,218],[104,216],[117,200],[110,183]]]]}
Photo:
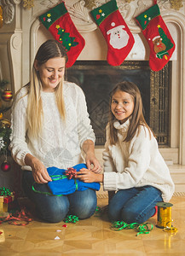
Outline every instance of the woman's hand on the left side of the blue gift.
{"type": "Polygon", "coordinates": [[[31,154],[26,154],[25,163],[32,167],[32,176],[36,183],[48,183],[51,177],[43,163],[31,154]]]}

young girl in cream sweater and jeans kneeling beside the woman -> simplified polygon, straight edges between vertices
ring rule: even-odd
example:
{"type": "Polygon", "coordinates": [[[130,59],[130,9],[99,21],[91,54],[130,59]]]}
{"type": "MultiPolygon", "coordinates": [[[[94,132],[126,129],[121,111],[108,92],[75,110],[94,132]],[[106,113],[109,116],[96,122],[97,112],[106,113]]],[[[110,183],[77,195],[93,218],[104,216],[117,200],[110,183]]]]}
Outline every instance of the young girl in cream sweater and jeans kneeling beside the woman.
{"type": "Polygon", "coordinates": [[[147,221],[157,202],[171,200],[174,183],[144,119],[142,96],[134,83],[121,82],[112,91],[105,148],[104,174],[84,169],[81,180],[103,182],[111,220],[147,221]]]}

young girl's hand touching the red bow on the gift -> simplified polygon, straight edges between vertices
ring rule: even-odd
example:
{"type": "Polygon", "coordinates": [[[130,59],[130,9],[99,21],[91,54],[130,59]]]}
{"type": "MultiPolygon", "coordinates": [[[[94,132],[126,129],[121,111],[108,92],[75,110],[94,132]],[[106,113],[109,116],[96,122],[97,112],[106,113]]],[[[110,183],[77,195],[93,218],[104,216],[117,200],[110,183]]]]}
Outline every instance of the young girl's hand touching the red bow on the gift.
{"type": "Polygon", "coordinates": [[[77,177],[84,183],[101,183],[103,181],[103,174],[96,174],[85,168],[77,172],[77,177]]]}

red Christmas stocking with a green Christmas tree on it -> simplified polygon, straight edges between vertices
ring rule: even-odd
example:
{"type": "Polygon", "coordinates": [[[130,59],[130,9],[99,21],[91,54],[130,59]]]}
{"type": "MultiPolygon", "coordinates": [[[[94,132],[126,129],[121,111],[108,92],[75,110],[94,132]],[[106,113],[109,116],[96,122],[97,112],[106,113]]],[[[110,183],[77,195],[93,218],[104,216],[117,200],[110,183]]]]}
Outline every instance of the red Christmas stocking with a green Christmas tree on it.
{"type": "Polygon", "coordinates": [[[56,5],[53,9],[40,15],[39,19],[51,32],[55,40],[66,48],[68,56],[66,67],[71,67],[84,48],[84,38],[74,26],[65,3],[62,2],[56,5]]]}

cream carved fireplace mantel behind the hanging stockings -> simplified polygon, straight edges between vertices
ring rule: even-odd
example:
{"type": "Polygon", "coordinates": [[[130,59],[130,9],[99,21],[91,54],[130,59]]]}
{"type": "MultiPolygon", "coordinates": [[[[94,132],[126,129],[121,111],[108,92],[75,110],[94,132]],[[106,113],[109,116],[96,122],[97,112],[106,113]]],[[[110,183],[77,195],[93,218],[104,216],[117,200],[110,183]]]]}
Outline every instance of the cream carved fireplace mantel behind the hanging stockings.
{"type": "MultiPolygon", "coordinates": [[[[94,8],[107,2],[97,1],[94,8]]],[[[0,76],[2,73],[2,78],[9,80],[14,92],[29,81],[30,67],[39,45],[52,38],[38,16],[57,3],[61,1],[35,0],[32,9],[24,9],[20,0],[0,0],[4,10],[4,24],[0,28],[0,76]]],[[[107,43],[91,18],[90,9],[85,7],[85,1],[66,0],[65,3],[78,32],[85,39],[78,60],[106,61],[107,43]]],[[[117,0],[117,4],[135,38],[134,47],[125,60],[148,61],[149,47],[134,17],[152,6],[153,0],[134,0],[130,3],[117,0]]],[[[182,3],[183,7],[179,10],[171,9],[170,1],[159,0],[158,4],[161,16],[176,43],[176,50],[171,56],[171,147],[160,148],[160,151],[165,160],[173,164],[173,170],[182,166],[180,171],[176,170],[185,176],[185,3],[182,3]]],[[[100,157],[101,150],[96,148],[100,157]]]]}

